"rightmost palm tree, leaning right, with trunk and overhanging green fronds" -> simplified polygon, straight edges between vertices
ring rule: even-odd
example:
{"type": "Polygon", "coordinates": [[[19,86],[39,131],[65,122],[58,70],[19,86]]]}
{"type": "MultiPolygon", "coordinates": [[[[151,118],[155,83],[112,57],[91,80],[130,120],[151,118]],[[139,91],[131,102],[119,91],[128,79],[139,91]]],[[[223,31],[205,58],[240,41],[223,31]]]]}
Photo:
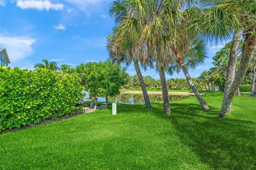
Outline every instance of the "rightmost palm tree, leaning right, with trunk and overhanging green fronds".
{"type": "Polygon", "coordinates": [[[231,47],[233,52],[230,54],[231,61],[229,61],[230,64],[227,72],[228,84],[226,86],[227,88],[225,87],[226,89],[219,117],[223,117],[230,112],[231,101],[234,98],[237,88],[242,84],[246,70],[249,67],[254,46],[256,44],[255,6],[255,1],[213,0],[210,5],[207,4],[206,6],[203,6],[201,12],[198,10],[198,15],[201,16],[197,15],[197,17],[194,17],[193,20],[191,20],[190,29],[192,31],[202,31],[209,37],[217,36],[223,38],[226,35],[235,32],[233,39],[237,39],[239,38],[239,30],[243,30],[244,45],[241,62],[237,71],[234,70],[237,43],[234,41],[231,47]],[[232,77],[234,77],[234,80],[232,77]]]}

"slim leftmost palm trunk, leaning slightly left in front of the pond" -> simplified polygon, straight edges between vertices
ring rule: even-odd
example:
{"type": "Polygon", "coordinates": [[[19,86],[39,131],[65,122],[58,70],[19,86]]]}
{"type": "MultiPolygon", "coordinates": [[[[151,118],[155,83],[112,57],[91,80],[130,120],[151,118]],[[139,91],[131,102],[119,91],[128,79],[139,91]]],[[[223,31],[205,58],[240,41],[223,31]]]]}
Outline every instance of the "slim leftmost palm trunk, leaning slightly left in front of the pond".
{"type": "Polygon", "coordinates": [[[145,100],[146,108],[151,109],[151,103],[150,103],[150,100],[149,100],[149,96],[148,96],[148,92],[147,92],[145,82],[143,80],[143,77],[142,77],[142,74],[141,74],[141,71],[140,71],[139,62],[135,61],[135,60],[133,62],[134,62],[135,71],[136,71],[136,73],[138,75],[138,78],[140,80],[140,87],[141,87],[141,90],[142,90],[142,93],[143,93],[143,98],[145,100]]]}

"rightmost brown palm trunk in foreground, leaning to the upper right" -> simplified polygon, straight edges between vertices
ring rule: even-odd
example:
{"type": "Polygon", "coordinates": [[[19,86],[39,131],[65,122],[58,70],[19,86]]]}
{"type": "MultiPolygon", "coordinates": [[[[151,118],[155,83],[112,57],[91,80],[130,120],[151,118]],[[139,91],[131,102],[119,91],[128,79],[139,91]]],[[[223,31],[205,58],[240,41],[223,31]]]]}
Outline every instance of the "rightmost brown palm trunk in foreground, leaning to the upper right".
{"type": "MultiPolygon", "coordinates": [[[[235,75],[234,81],[231,84],[229,90],[226,92],[226,95],[223,97],[222,107],[219,113],[219,117],[223,117],[228,112],[228,108],[231,105],[231,101],[234,98],[235,91],[242,84],[246,71],[249,67],[249,63],[254,51],[254,46],[256,44],[256,34],[252,34],[253,30],[246,30],[244,46],[242,52],[242,58],[239,64],[239,68],[235,75]]],[[[230,60],[230,59],[229,59],[230,60]]],[[[235,66],[233,66],[235,67],[235,66]]]]}

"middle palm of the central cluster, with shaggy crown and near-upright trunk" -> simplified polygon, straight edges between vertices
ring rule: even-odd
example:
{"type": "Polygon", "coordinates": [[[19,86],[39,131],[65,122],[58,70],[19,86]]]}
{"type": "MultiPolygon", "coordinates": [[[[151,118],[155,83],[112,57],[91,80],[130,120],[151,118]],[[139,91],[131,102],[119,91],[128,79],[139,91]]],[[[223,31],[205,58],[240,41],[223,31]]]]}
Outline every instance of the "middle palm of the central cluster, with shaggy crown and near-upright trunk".
{"type": "MultiPolygon", "coordinates": [[[[132,56],[133,61],[152,60],[162,83],[164,111],[170,113],[165,69],[175,60],[172,52],[173,37],[179,13],[178,1],[115,1],[110,14],[118,23],[118,37],[122,39],[122,48],[132,56]],[[134,60],[135,59],[135,60],[134,60]]],[[[143,62],[142,62],[143,64],[143,62]]]]}

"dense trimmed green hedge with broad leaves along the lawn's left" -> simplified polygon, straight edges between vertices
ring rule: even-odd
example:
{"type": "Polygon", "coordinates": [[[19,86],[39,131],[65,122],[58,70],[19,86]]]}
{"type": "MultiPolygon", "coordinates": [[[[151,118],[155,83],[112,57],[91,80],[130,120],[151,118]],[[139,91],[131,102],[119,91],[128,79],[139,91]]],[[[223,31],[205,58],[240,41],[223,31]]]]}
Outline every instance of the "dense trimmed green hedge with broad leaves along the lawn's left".
{"type": "Polygon", "coordinates": [[[75,74],[0,67],[0,132],[72,115],[82,96],[75,74]]]}

